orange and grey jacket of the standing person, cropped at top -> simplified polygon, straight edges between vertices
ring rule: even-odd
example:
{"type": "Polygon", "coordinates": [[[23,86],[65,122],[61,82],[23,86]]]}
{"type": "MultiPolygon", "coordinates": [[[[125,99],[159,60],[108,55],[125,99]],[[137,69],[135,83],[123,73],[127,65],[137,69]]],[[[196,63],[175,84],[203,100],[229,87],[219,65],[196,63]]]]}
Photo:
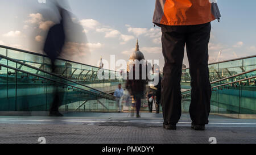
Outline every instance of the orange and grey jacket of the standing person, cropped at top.
{"type": "Polygon", "coordinates": [[[153,23],[186,26],[220,19],[216,0],[156,0],[153,23]]]}

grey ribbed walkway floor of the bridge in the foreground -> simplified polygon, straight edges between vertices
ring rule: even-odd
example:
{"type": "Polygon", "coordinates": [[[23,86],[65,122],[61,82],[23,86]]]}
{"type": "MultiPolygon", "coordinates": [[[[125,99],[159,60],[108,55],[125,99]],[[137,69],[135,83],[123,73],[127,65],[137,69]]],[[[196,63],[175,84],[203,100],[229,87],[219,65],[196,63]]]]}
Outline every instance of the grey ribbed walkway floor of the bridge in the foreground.
{"type": "Polygon", "coordinates": [[[176,131],[162,127],[162,114],[126,113],[64,114],[47,116],[0,116],[0,143],[36,144],[45,137],[48,144],[209,144],[256,143],[256,120],[210,115],[205,131],[191,129],[188,114],[181,116],[176,131]]]}

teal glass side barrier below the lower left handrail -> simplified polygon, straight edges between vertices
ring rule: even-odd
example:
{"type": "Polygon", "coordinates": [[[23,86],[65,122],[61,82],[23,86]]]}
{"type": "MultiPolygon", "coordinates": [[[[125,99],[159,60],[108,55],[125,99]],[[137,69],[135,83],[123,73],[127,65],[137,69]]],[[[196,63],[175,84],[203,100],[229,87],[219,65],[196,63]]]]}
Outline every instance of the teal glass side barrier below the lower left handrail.
{"type": "MultiPolygon", "coordinates": [[[[34,74],[5,64],[0,66],[0,87],[2,87],[0,111],[47,111],[56,87],[59,93],[64,94],[63,104],[99,99],[114,102],[114,98],[109,95],[85,90],[64,81],[56,81],[56,78],[34,74]],[[5,72],[6,74],[3,74],[5,72]]],[[[108,110],[108,107],[104,108],[108,110]]]]}

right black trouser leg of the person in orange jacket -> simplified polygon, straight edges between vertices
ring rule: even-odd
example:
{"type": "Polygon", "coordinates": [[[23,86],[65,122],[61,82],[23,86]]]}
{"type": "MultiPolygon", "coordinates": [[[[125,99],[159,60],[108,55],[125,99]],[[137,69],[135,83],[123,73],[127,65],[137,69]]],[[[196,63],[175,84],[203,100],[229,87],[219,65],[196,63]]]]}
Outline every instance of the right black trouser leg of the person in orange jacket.
{"type": "Polygon", "coordinates": [[[192,87],[189,114],[192,122],[198,125],[208,124],[210,112],[212,95],[208,69],[210,30],[210,23],[189,26],[186,39],[192,87]]]}

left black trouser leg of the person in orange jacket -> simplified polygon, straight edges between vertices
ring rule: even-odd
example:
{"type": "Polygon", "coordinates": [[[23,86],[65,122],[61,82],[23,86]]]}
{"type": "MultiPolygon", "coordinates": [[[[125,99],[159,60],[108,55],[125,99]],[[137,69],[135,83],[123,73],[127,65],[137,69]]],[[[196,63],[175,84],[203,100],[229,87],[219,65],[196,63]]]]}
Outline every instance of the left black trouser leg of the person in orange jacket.
{"type": "Polygon", "coordinates": [[[181,116],[181,68],[185,48],[185,27],[163,26],[162,46],[164,69],[162,106],[165,124],[176,124],[181,116]]]}

